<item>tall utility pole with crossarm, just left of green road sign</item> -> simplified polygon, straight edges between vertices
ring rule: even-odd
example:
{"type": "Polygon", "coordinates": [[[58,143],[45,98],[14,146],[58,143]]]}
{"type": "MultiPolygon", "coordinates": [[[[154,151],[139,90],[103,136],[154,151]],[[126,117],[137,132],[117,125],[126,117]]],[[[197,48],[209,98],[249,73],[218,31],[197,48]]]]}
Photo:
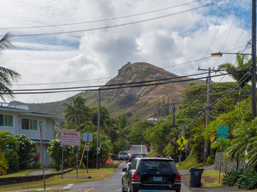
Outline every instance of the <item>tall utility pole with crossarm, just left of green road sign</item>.
{"type": "MultiPolygon", "coordinates": [[[[199,69],[202,71],[206,71],[206,69],[199,69]]],[[[210,87],[211,87],[211,71],[216,71],[216,70],[211,70],[211,68],[208,69],[208,77],[207,77],[207,106],[206,106],[206,122],[205,126],[209,124],[209,110],[210,110],[210,87]]],[[[204,162],[207,160],[207,155],[208,155],[208,139],[205,139],[205,155],[204,155],[204,162]]]]}

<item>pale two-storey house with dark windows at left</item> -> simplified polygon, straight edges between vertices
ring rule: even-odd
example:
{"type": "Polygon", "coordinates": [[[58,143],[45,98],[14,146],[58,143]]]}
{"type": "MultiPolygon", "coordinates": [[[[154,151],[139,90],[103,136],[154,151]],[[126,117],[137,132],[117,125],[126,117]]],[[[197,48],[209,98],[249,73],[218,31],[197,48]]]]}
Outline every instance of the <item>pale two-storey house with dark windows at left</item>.
{"type": "Polygon", "coordinates": [[[42,123],[43,158],[45,165],[49,164],[49,156],[46,153],[46,149],[54,137],[54,120],[63,121],[65,119],[55,115],[32,112],[29,110],[28,105],[0,102],[0,131],[8,130],[14,135],[26,135],[28,139],[36,142],[38,152],[40,153],[39,123],[42,123]]]}

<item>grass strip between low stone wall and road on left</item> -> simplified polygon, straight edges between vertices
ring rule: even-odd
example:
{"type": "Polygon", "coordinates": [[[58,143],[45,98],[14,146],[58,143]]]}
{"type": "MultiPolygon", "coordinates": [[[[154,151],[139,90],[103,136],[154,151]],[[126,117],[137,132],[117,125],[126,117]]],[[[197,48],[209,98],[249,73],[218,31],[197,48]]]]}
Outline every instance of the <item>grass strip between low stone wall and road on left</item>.
{"type": "MultiPolygon", "coordinates": [[[[79,175],[90,175],[91,179],[82,179],[82,178],[58,178],[59,176],[53,176],[46,179],[46,186],[53,186],[53,185],[62,185],[62,184],[69,184],[69,183],[80,183],[80,182],[87,182],[87,181],[97,181],[102,180],[109,175],[113,174],[116,169],[114,168],[100,168],[100,169],[88,169],[88,174],[86,173],[86,169],[79,169],[79,175]]],[[[76,169],[72,170],[65,175],[76,175],[76,169]]],[[[20,189],[28,189],[28,188],[38,188],[43,187],[43,180],[41,181],[32,181],[32,182],[24,182],[24,183],[17,183],[11,185],[4,185],[0,186],[0,190],[20,190],[20,189]]]]}

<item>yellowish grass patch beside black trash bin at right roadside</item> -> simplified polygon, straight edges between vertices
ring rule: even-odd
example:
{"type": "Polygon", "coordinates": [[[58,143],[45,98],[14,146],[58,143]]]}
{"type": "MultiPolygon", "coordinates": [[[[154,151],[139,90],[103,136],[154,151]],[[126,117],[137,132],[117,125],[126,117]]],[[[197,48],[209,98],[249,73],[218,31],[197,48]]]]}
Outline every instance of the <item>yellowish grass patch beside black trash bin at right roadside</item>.
{"type": "MultiPolygon", "coordinates": [[[[204,187],[221,187],[224,186],[221,183],[218,184],[218,174],[217,170],[204,170],[203,175],[201,175],[201,183],[203,183],[204,187]]],[[[224,173],[221,173],[221,181],[224,176],[224,173]]],[[[186,180],[190,180],[189,175],[183,176],[186,180]]]]}

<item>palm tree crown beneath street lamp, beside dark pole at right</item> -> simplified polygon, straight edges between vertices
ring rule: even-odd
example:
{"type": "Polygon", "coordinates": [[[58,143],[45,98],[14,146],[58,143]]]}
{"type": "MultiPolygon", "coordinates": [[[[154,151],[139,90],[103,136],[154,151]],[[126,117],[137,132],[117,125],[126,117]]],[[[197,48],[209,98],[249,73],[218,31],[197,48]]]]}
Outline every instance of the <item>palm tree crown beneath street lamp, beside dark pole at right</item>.
{"type": "Polygon", "coordinates": [[[251,80],[250,70],[251,70],[251,59],[245,54],[237,53],[235,56],[235,65],[229,62],[223,63],[218,66],[218,70],[225,70],[227,73],[235,72],[236,70],[248,70],[239,73],[230,74],[230,76],[240,82],[240,92],[241,88],[245,86],[245,83],[251,80]],[[249,75],[247,75],[249,74],[249,75]]]}

